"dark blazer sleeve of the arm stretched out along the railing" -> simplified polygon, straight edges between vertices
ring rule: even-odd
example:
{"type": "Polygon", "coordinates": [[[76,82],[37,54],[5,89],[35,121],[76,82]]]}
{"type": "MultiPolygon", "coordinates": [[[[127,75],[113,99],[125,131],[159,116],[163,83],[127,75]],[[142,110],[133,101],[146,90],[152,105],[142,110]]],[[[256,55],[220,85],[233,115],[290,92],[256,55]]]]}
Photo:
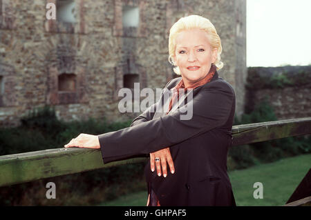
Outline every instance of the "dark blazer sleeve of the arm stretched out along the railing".
{"type": "Polygon", "coordinates": [[[142,117],[144,123],[98,135],[103,161],[109,163],[149,154],[221,127],[229,118],[233,101],[234,91],[227,83],[210,83],[176,112],[149,121],[142,117]],[[192,117],[182,120],[181,115],[189,105],[192,106],[192,117]]]}

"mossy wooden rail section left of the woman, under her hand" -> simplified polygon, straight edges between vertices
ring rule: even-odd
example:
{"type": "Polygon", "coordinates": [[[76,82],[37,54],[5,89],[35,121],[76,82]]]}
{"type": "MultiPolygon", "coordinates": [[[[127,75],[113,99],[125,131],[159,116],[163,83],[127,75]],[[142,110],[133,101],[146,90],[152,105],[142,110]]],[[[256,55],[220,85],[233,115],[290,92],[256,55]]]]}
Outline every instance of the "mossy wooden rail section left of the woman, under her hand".
{"type": "Polygon", "coordinates": [[[145,160],[146,158],[135,158],[104,164],[99,149],[86,148],[58,148],[10,154],[0,156],[0,186],[145,160]]]}

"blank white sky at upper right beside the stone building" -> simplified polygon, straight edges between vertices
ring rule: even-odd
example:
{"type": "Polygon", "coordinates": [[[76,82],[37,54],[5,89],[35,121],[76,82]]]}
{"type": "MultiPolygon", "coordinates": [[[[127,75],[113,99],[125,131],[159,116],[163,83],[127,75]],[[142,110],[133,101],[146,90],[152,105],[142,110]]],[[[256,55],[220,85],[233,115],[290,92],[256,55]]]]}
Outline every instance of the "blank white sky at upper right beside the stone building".
{"type": "Polygon", "coordinates": [[[311,0],[247,0],[247,66],[311,65],[311,0]]]}

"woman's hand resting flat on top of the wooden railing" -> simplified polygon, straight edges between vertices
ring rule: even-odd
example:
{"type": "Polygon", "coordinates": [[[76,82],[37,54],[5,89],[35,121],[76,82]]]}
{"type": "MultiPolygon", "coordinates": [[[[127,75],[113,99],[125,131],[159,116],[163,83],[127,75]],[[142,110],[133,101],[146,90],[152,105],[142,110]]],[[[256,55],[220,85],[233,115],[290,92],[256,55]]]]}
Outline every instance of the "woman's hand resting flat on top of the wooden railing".
{"type": "Polygon", "coordinates": [[[77,148],[100,148],[100,140],[97,135],[93,134],[79,134],[78,137],[71,139],[69,143],[67,143],[65,148],[77,147],[77,148]]]}

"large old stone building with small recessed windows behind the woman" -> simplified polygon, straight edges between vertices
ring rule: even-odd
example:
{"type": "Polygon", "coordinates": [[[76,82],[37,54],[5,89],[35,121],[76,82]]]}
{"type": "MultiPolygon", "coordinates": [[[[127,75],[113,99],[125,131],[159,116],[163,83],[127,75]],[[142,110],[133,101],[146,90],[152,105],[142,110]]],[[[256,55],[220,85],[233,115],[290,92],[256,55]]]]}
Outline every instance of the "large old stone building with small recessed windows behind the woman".
{"type": "Polygon", "coordinates": [[[243,113],[245,0],[0,0],[0,126],[17,126],[30,110],[54,106],[57,117],[133,119],[117,106],[120,88],[163,88],[176,77],[169,28],[199,14],[222,39],[220,77],[236,90],[243,113]],[[57,19],[46,19],[55,3],[57,19]]]}

